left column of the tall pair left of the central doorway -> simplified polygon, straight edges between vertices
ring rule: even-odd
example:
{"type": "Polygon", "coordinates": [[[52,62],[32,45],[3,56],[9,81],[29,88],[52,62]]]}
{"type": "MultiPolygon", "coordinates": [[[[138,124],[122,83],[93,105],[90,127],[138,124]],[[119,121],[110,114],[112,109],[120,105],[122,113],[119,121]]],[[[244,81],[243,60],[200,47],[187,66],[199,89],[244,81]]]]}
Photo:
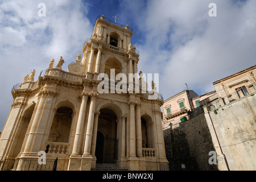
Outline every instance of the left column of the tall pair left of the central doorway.
{"type": "Polygon", "coordinates": [[[81,103],[80,112],[79,112],[79,118],[77,121],[76,135],[75,135],[75,140],[74,140],[74,144],[73,144],[72,155],[80,154],[82,129],[84,128],[84,119],[85,119],[87,100],[88,100],[88,94],[83,92],[82,93],[82,103],[81,103]]]}

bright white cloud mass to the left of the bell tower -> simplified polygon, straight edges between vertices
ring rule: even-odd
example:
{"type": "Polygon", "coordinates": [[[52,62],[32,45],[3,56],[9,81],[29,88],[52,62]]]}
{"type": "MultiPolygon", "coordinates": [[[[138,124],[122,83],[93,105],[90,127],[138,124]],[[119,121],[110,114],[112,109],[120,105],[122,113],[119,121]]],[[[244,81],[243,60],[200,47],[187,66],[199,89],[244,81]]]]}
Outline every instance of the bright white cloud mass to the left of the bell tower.
{"type": "Polygon", "coordinates": [[[1,100],[0,131],[13,102],[11,88],[22,82],[30,69],[47,69],[63,56],[67,65],[81,53],[86,38],[92,35],[93,25],[84,15],[88,7],[81,1],[43,1],[46,17],[38,16],[42,1],[3,1],[0,3],[0,60],[1,100]]]}

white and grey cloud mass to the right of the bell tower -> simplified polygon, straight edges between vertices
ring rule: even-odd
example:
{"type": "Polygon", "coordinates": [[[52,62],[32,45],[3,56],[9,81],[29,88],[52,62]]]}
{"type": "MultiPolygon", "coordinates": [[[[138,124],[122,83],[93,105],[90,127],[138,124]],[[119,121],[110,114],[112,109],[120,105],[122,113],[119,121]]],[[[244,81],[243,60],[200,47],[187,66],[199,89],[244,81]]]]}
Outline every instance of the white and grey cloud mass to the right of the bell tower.
{"type": "MultiPolygon", "coordinates": [[[[137,42],[139,69],[159,72],[164,98],[186,89],[203,94],[212,85],[255,64],[256,2],[214,1],[217,17],[210,17],[213,1],[147,1],[134,13],[144,41],[137,42]]],[[[132,7],[130,7],[132,9],[132,7]]]]}

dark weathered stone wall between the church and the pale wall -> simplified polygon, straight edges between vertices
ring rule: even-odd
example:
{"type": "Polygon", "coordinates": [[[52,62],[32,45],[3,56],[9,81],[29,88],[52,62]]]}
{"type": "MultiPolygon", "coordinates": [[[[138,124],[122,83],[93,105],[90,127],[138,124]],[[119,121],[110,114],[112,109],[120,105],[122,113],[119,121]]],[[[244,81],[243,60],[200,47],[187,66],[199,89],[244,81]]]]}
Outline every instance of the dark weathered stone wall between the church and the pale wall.
{"type": "Polygon", "coordinates": [[[204,113],[163,131],[166,156],[172,164],[184,163],[187,169],[217,170],[210,165],[209,151],[215,151],[204,113]]]}

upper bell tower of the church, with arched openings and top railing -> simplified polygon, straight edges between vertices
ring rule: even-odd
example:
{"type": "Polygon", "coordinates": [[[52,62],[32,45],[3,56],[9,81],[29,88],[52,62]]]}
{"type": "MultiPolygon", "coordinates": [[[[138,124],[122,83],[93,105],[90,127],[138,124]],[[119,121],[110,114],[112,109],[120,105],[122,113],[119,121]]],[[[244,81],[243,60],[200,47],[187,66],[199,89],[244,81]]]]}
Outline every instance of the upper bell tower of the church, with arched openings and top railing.
{"type": "Polygon", "coordinates": [[[105,18],[96,20],[93,35],[86,39],[81,61],[68,65],[68,71],[76,75],[97,79],[99,73],[137,73],[139,52],[131,46],[133,29],[105,18]]]}

